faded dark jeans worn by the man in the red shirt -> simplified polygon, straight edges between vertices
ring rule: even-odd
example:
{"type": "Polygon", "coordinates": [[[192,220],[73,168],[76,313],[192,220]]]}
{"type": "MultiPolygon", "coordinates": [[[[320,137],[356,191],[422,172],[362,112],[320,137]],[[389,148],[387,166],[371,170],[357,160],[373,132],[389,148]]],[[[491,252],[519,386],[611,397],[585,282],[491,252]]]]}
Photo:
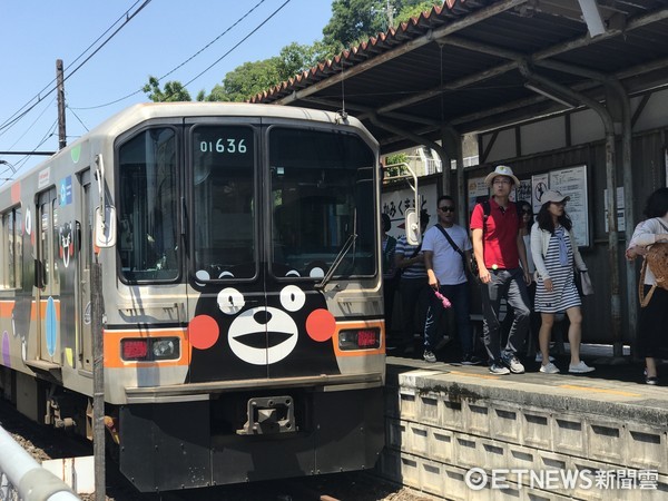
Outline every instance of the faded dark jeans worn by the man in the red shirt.
{"type": "Polygon", "coordinates": [[[484,347],[490,358],[497,362],[514,356],[524,343],[529,331],[531,310],[522,268],[490,269],[490,276],[489,284],[480,284],[482,333],[484,347]],[[501,325],[499,323],[499,306],[502,297],[505,297],[514,314],[503,352],[501,352],[501,325]]]}

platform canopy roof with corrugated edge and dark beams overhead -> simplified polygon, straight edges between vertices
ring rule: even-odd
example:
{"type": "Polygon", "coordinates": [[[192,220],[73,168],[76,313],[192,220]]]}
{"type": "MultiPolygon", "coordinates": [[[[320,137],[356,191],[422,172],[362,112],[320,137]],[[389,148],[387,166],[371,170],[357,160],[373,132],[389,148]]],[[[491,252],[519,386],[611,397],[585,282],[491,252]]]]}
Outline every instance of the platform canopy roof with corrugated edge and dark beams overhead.
{"type": "Polygon", "coordinates": [[[668,0],[448,0],[252,102],[345,110],[391,153],[601,101],[615,80],[668,85],[668,0]]]}

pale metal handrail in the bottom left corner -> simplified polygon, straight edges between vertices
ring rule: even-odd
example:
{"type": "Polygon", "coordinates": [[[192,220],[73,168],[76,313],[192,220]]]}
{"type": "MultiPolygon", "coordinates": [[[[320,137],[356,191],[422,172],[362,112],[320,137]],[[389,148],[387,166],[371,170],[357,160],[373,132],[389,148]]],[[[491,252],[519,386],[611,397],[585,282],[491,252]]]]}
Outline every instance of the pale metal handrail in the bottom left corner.
{"type": "Polygon", "coordinates": [[[14,500],[16,493],[22,501],[80,501],[0,426],[0,500],[14,500]]]}

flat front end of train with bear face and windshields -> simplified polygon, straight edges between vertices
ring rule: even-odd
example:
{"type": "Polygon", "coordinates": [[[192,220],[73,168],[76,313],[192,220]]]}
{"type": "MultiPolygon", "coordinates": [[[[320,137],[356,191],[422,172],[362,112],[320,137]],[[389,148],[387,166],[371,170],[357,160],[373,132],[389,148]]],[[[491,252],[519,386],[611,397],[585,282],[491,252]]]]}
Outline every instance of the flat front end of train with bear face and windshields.
{"type": "Polygon", "coordinates": [[[125,306],[108,313],[105,358],[121,471],[164,491],[373,468],[372,140],[332,124],[195,121],[115,148],[125,306]]]}

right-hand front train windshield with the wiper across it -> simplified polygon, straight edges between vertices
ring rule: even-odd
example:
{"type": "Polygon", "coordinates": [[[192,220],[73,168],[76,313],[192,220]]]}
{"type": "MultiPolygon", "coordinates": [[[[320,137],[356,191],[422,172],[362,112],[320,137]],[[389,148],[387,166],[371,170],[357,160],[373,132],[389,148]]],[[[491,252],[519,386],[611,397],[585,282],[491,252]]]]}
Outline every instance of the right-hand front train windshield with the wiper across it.
{"type": "Polygon", "coordinates": [[[373,275],[372,149],[352,134],[288,127],[268,143],[274,273],[322,279],[338,258],[334,277],[373,275]]]}

